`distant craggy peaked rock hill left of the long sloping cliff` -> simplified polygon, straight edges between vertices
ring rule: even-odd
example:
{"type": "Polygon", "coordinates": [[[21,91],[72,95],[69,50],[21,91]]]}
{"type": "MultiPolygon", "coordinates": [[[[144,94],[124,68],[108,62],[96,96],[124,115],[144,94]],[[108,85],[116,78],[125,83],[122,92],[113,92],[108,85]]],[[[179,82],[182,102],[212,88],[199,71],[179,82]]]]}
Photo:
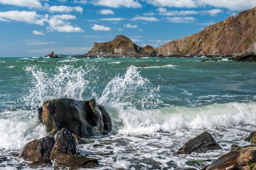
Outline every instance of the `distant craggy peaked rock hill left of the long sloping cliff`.
{"type": "Polygon", "coordinates": [[[92,50],[81,57],[143,57],[155,56],[155,54],[155,50],[152,46],[146,45],[142,48],[133,43],[131,39],[123,35],[117,35],[114,40],[109,42],[95,42],[92,50]]]}

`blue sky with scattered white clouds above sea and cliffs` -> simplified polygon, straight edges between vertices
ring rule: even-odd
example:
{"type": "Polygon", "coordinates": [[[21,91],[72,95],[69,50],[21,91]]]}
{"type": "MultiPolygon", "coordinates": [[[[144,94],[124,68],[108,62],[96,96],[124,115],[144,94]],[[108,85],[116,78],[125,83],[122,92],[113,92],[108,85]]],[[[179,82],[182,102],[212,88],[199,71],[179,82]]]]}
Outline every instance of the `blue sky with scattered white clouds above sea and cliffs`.
{"type": "Polygon", "coordinates": [[[256,0],[0,0],[0,57],[86,54],[117,35],[157,48],[256,0]]]}

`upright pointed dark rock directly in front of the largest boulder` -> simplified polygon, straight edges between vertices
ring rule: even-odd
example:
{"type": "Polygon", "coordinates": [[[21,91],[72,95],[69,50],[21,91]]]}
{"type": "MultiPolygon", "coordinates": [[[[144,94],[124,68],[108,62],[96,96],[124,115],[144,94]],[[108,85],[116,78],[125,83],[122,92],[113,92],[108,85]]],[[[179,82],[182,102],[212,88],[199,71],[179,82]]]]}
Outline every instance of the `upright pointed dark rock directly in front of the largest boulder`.
{"type": "Polygon", "coordinates": [[[54,160],[59,154],[79,155],[76,139],[66,128],[57,132],[50,159],[54,160]]]}

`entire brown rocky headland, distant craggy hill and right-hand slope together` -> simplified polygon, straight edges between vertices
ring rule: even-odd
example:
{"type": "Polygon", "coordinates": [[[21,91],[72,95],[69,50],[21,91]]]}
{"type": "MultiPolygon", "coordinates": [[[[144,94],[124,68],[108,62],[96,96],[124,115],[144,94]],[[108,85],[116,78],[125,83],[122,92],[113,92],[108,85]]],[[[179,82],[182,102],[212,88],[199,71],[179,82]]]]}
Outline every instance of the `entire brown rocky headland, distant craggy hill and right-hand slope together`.
{"type": "MultiPolygon", "coordinates": [[[[256,7],[204,28],[203,31],[154,49],[140,47],[131,39],[118,35],[78,57],[240,57],[256,53],[256,7]]],[[[253,55],[252,55],[253,56],[253,55]]],[[[239,58],[239,59],[240,59],[239,58]]],[[[235,61],[240,61],[234,59],[235,61]]],[[[255,61],[253,57],[252,60],[255,61]]]]}

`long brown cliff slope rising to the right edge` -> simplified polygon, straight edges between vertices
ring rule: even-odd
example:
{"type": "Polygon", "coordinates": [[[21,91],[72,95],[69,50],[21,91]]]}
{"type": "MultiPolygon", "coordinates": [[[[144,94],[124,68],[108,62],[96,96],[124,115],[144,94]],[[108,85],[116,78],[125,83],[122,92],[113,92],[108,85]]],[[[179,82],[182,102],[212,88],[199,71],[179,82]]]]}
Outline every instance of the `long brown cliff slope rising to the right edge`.
{"type": "Polygon", "coordinates": [[[256,7],[157,48],[163,56],[241,56],[256,53],[256,7]]]}

